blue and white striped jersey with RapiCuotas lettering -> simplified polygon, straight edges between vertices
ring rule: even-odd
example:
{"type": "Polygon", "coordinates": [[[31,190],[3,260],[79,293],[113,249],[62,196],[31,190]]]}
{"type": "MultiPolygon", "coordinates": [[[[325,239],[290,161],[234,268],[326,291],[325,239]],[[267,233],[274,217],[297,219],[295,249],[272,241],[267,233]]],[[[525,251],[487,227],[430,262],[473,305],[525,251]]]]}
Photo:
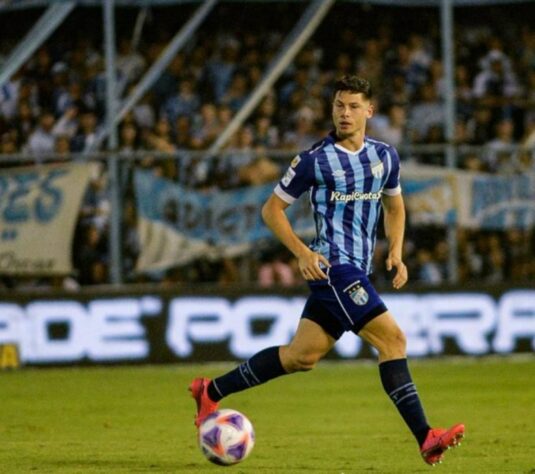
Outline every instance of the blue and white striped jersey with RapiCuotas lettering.
{"type": "Polygon", "coordinates": [[[316,224],[310,248],[331,265],[350,263],[371,273],[381,195],[401,193],[399,155],[369,137],[355,152],[335,142],[331,133],[297,155],[274,192],[292,204],[309,191],[316,224]]]}

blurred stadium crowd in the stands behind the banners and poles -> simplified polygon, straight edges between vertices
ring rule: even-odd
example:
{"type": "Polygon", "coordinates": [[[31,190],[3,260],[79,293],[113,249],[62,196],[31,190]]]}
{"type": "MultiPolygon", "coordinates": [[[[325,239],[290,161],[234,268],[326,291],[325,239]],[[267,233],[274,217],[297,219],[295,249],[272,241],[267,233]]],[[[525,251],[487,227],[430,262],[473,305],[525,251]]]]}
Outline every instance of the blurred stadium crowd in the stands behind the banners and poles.
{"type": "MultiPolygon", "coordinates": [[[[138,44],[131,40],[133,21],[123,18],[117,49],[123,95],[132,90],[178,29],[175,16],[169,15],[178,11],[173,8],[154,9],[138,44]]],[[[454,141],[464,146],[459,148],[457,163],[461,169],[535,172],[535,28],[529,21],[529,12],[535,10],[528,8],[522,4],[471,7],[456,16],[454,141]]],[[[295,151],[310,147],[329,131],[328,84],[342,74],[357,73],[372,82],[377,94],[377,112],[368,134],[398,147],[402,163],[444,166],[442,151],[416,153],[411,148],[446,141],[438,11],[425,8],[411,18],[407,9],[360,4],[333,8],[231,138],[224,157],[188,159],[185,151],[206,150],[245,103],[302,9],[303,5],[286,3],[219,5],[121,122],[119,150],[124,155],[146,151],[136,166],[201,190],[274,182],[295,151]],[[396,19],[400,11],[408,18],[402,24],[396,19]],[[287,152],[284,160],[273,157],[275,150],[287,152]],[[178,166],[177,159],[161,160],[154,152],[179,153],[182,162],[178,166]]],[[[88,10],[84,12],[87,15],[88,10]]],[[[121,12],[134,20],[130,10],[121,12]]],[[[83,159],[83,153],[93,149],[105,115],[104,58],[100,27],[87,31],[80,27],[82,21],[76,15],[67,19],[1,88],[0,153],[4,157],[22,153],[39,162],[50,154],[65,159],[75,153],[74,159],[83,159]]],[[[97,25],[100,17],[89,21],[97,25]]],[[[11,33],[8,29],[0,43],[4,58],[18,39],[11,33]]],[[[13,163],[0,155],[0,166],[13,163]]],[[[131,162],[123,163],[122,248],[127,281],[303,283],[291,256],[269,244],[232,259],[200,259],[161,274],[136,275],[139,239],[130,199],[132,169],[131,162]]],[[[2,284],[23,288],[107,283],[109,220],[103,166],[81,209],[74,243],[76,274],[52,283],[3,278],[2,284]]],[[[535,276],[533,227],[458,229],[457,240],[461,282],[535,276]]],[[[405,259],[413,281],[447,281],[449,251],[444,227],[409,225],[405,259]]],[[[380,239],[375,278],[386,284],[384,252],[385,241],[380,239]]]]}

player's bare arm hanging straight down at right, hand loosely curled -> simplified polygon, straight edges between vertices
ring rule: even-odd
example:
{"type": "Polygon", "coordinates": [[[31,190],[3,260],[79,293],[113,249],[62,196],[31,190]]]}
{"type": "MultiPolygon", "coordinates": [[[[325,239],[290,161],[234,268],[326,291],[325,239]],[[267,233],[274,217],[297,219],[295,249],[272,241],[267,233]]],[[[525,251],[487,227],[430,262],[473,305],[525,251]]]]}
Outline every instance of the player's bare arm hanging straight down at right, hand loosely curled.
{"type": "Polygon", "coordinates": [[[405,204],[401,194],[383,194],[382,205],[384,210],[385,234],[388,239],[388,257],[386,269],[396,269],[392,281],[394,288],[399,289],[408,280],[407,267],[403,263],[403,237],[405,234],[405,204]]]}

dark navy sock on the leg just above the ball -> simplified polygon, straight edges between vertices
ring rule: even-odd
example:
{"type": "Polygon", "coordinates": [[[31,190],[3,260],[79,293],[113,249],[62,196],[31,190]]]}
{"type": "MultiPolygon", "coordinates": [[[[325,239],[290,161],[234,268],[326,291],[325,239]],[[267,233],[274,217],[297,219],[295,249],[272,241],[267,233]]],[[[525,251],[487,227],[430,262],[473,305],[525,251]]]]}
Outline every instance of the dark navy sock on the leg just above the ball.
{"type": "Polygon", "coordinates": [[[212,380],[208,385],[208,396],[214,402],[218,402],[231,393],[260,385],[285,374],[279,357],[279,347],[268,347],[234,370],[212,380]]]}

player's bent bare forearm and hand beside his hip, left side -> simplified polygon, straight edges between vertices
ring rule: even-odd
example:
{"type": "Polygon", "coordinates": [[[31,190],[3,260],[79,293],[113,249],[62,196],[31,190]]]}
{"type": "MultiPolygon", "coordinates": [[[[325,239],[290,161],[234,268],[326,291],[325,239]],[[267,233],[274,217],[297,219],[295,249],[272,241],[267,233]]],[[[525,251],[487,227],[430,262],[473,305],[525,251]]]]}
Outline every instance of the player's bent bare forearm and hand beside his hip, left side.
{"type": "Polygon", "coordinates": [[[310,250],[294,232],[288,217],[286,208],[289,204],[272,194],[262,207],[262,218],[275,236],[297,258],[299,270],[305,280],[323,280],[327,275],[319,267],[319,262],[330,266],[328,260],[316,252],[310,250]]]}

